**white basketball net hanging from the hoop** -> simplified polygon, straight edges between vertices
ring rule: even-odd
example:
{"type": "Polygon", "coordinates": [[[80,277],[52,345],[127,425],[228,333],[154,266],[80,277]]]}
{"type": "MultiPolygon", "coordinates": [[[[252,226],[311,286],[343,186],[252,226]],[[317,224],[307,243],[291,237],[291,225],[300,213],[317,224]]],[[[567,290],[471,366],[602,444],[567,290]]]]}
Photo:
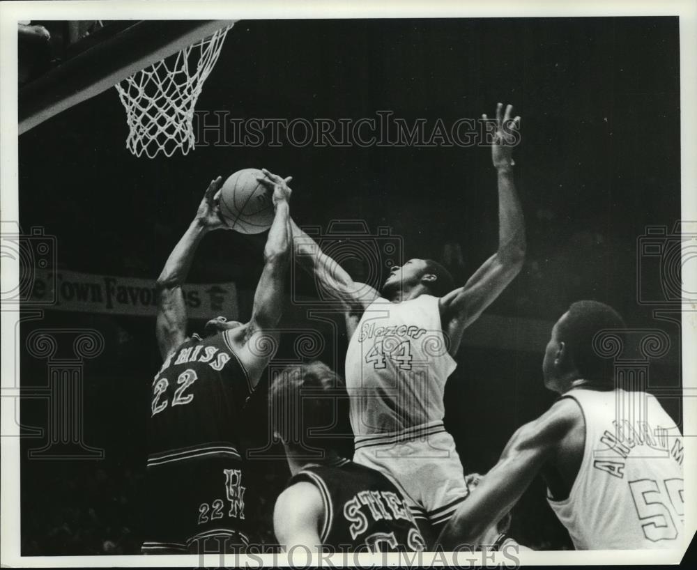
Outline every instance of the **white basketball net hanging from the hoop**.
{"type": "Polygon", "coordinates": [[[196,146],[194,107],[231,27],[116,84],[126,109],[130,130],[126,148],[131,153],[154,158],[161,152],[170,157],[178,148],[187,154],[196,146]]]}

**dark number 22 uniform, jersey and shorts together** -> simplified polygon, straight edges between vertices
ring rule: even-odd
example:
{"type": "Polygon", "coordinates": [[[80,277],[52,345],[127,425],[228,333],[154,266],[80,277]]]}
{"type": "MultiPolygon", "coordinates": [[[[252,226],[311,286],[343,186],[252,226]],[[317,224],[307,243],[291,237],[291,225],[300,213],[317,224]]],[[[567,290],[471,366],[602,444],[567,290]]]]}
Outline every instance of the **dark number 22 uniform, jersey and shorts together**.
{"type": "Polygon", "coordinates": [[[207,551],[228,550],[249,540],[239,422],[251,392],[224,333],[194,335],[162,364],[151,389],[144,553],[197,552],[204,539],[207,551]]]}

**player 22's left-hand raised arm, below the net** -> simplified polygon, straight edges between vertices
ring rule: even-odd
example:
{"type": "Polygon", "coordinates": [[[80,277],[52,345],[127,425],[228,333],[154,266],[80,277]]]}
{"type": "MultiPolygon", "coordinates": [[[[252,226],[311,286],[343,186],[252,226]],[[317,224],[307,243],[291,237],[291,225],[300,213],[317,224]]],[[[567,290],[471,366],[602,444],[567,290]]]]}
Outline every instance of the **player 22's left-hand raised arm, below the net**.
{"type": "Polygon", "coordinates": [[[158,317],[156,333],[162,358],[179,346],[186,337],[186,304],[181,285],[185,282],[194,252],[208,231],[229,229],[220,217],[218,199],[222,178],[211,180],[201,200],[194,221],[169,254],[167,263],[158,277],[158,317]]]}

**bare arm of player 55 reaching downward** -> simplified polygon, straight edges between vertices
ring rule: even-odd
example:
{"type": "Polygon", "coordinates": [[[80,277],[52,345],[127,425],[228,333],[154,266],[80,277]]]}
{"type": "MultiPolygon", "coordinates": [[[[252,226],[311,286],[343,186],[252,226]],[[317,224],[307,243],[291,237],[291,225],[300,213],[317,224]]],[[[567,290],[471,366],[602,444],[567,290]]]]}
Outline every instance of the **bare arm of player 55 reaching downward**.
{"type": "Polygon", "coordinates": [[[506,444],[498,463],[455,511],[438,537],[444,550],[481,546],[482,534],[521,498],[542,466],[552,459],[579,421],[580,408],[559,400],[544,415],[525,424],[506,444]]]}

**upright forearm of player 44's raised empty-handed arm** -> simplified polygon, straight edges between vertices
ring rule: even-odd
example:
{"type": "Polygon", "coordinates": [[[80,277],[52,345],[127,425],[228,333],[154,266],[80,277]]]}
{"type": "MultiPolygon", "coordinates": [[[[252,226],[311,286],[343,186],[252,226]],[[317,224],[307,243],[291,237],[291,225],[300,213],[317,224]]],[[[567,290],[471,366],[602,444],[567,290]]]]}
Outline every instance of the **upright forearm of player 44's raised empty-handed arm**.
{"type": "Polygon", "coordinates": [[[513,168],[499,167],[498,177],[498,259],[522,264],[526,252],[523,208],[516,192],[513,168]]]}

